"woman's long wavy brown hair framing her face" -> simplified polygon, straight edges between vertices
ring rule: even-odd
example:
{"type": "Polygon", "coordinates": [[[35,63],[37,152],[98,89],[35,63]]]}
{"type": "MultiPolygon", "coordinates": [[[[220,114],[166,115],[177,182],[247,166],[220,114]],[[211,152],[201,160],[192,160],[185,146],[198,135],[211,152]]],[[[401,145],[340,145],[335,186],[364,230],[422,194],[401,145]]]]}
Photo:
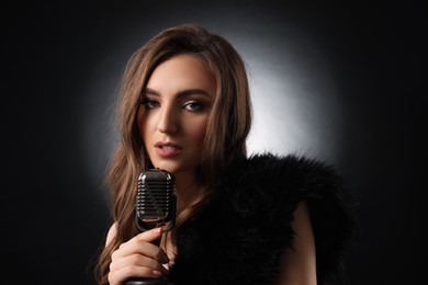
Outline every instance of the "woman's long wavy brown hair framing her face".
{"type": "Polygon", "coordinates": [[[195,56],[212,70],[216,80],[216,96],[199,171],[200,196],[178,214],[174,230],[210,201],[226,166],[246,156],[246,139],[251,125],[246,66],[224,37],[198,24],[184,24],[160,32],[137,49],[126,66],[117,101],[121,140],[106,175],[111,215],[117,233],[100,254],[95,267],[99,284],[109,284],[112,252],[138,233],[134,212],[137,178],[149,163],[138,129],[142,90],[158,65],[180,54],[195,56]]]}

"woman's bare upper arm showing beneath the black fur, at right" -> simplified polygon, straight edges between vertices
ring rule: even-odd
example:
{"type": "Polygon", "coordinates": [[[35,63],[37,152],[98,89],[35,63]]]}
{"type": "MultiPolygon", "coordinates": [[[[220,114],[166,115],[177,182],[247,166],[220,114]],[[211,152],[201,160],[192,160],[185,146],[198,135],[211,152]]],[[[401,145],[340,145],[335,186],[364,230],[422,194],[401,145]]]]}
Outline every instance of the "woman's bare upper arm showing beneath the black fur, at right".
{"type": "Polygon", "coordinates": [[[307,203],[301,202],[293,213],[295,231],[293,251],[283,256],[279,285],[316,285],[315,240],[307,203]]]}

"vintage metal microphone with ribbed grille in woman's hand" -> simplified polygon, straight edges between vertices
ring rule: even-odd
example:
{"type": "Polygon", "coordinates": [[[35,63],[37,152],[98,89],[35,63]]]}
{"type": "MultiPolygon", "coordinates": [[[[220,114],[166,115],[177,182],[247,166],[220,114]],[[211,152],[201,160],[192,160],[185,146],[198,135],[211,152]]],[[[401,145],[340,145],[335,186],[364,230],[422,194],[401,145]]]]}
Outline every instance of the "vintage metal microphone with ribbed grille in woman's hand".
{"type": "MultiPolygon", "coordinates": [[[[143,171],[138,176],[136,224],[140,231],[162,227],[169,231],[176,224],[176,179],[161,169],[143,171]]],[[[167,278],[133,277],[125,285],[172,285],[167,278]]]]}

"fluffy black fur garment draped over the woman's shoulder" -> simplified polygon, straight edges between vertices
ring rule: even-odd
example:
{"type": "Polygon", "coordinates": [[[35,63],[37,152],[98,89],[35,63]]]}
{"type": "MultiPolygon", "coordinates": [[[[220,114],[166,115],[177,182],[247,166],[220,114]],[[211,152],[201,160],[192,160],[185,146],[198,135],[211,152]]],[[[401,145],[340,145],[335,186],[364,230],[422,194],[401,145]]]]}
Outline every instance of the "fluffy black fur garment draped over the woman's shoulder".
{"type": "Polygon", "coordinates": [[[347,284],[342,253],[354,229],[352,200],[330,166],[296,156],[258,155],[228,170],[216,198],[177,232],[173,284],[274,284],[291,250],[291,221],[306,200],[318,285],[347,284]]]}

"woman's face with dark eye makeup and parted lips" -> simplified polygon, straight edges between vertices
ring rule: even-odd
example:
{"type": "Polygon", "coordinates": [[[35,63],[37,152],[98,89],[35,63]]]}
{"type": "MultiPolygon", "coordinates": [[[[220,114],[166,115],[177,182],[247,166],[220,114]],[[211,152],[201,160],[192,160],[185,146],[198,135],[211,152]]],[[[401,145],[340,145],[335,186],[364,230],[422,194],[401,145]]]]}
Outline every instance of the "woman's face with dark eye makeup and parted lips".
{"type": "Polygon", "coordinates": [[[215,79],[190,55],[160,64],[142,94],[139,133],[155,168],[194,174],[201,162],[215,79]]]}

